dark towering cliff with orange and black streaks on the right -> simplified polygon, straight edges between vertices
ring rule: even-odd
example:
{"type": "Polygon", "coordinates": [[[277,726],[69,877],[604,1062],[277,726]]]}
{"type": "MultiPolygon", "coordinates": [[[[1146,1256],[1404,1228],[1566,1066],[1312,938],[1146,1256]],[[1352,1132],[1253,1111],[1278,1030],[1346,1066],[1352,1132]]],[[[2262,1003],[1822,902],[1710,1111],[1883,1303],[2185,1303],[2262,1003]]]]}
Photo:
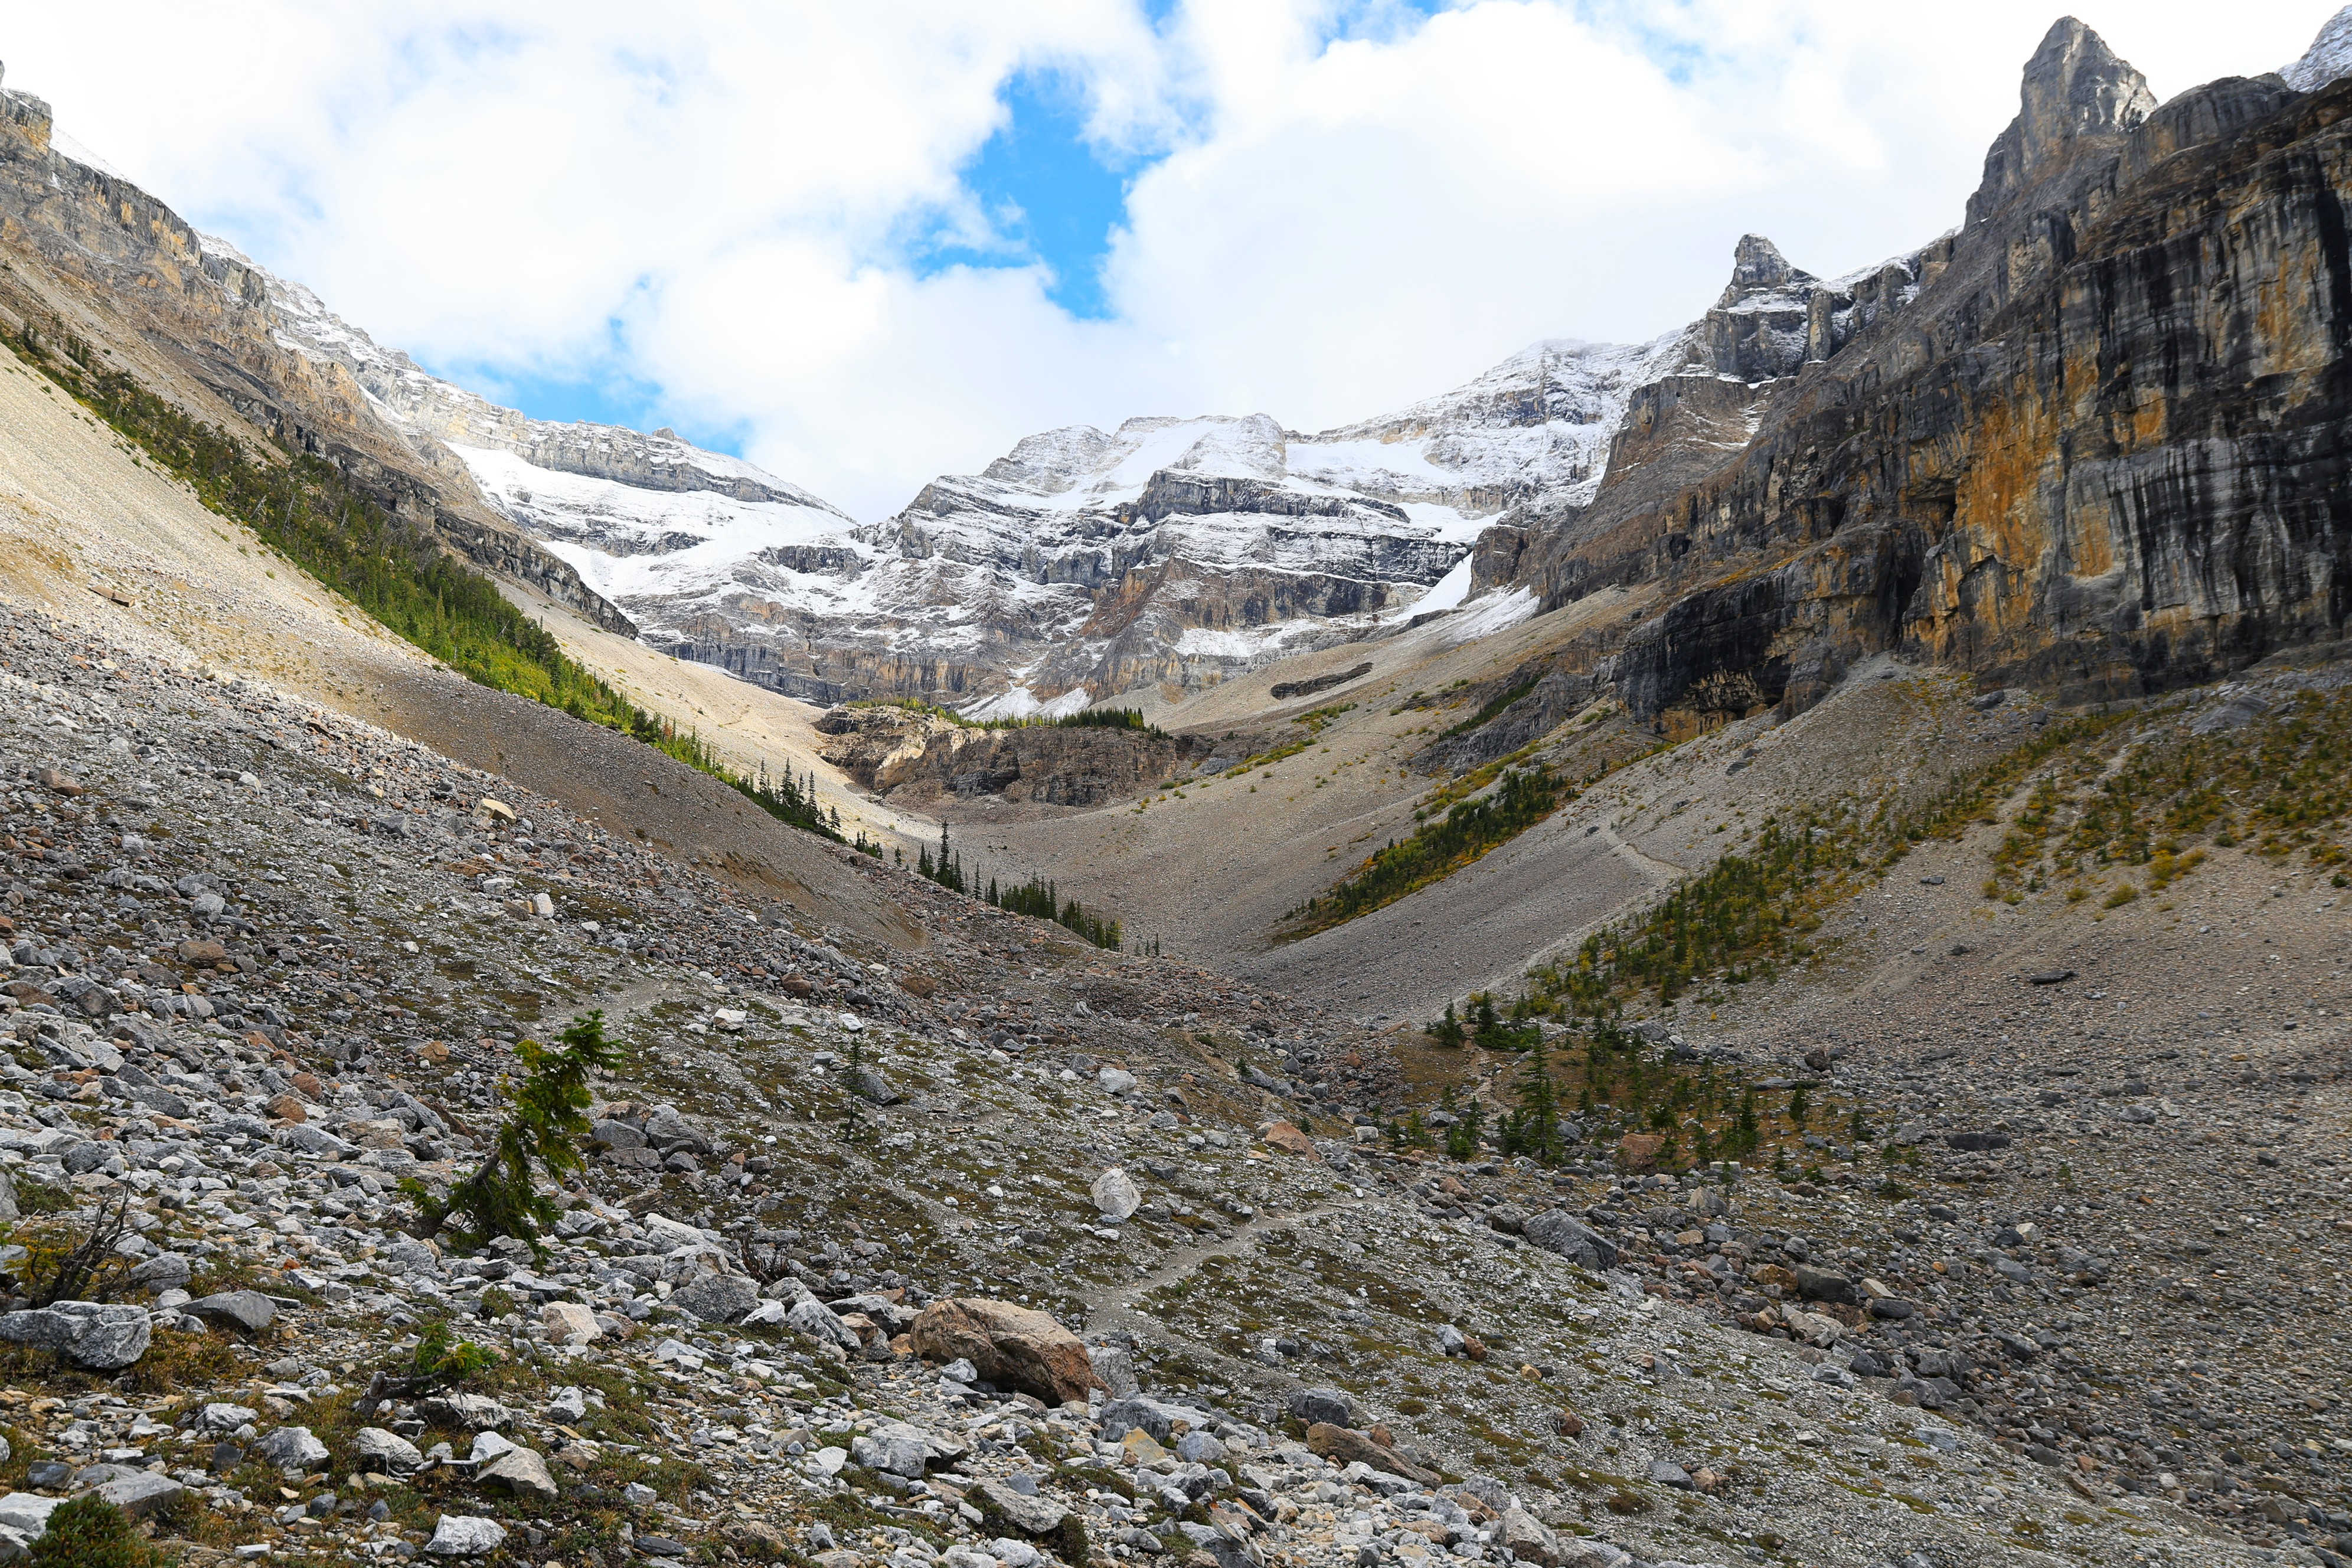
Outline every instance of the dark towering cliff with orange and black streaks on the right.
{"type": "Polygon", "coordinates": [[[1731,381],[1637,390],[1595,498],[1515,512],[1482,578],[1649,585],[1595,670],[1672,722],[1877,649],[2093,696],[2340,637],[2347,113],[2277,75],[2159,108],[2060,21],[1955,235],[1806,301],[1802,350],[1773,296],[1809,280],[1743,242],[1726,301],[1771,303],[1703,322],[1731,381]]]}

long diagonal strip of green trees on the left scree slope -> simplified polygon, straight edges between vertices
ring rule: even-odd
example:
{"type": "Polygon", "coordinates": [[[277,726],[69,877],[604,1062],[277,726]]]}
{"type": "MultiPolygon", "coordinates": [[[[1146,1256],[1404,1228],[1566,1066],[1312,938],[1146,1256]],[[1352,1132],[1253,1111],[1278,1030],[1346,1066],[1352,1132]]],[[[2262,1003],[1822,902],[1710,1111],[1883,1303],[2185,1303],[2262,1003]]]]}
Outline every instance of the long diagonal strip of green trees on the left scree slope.
{"type": "MultiPolygon", "coordinates": [[[[816,806],[814,780],[769,776],[764,769],[746,778],[724,766],[699,736],[680,733],[564,658],[555,637],[508,602],[489,576],[350,489],[332,463],[310,454],[263,461],[129,376],[96,369],[87,346],[71,336],[64,339],[64,360],[45,353],[45,343],[7,334],[0,341],[136,444],[155,468],[186,482],[207,510],[249,527],[322,585],[452,670],[616,729],[729,783],[781,823],[844,842],[840,813],[828,818],[816,806]]],[[[880,853],[880,846],[866,849],[880,853]]]]}

